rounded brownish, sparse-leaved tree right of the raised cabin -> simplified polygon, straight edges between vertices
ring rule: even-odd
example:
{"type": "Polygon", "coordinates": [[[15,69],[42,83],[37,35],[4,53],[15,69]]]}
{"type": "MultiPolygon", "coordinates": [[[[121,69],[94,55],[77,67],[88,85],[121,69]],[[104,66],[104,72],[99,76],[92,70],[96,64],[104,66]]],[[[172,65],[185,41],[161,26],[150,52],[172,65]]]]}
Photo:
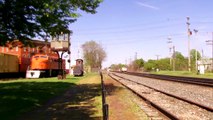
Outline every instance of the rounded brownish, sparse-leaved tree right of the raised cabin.
{"type": "Polygon", "coordinates": [[[82,45],[84,60],[92,68],[101,68],[106,58],[103,47],[95,41],[89,41],[82,45]]]}

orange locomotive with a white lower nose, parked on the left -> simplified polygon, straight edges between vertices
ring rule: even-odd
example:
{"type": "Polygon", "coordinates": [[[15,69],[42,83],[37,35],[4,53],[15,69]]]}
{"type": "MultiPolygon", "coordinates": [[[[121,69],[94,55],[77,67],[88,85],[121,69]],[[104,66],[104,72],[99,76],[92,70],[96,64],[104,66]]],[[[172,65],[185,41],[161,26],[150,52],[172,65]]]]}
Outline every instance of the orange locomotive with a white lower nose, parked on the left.
{"type": "MultiPolygon", "coordinates": [[[[56,55],[35,54],[31,57],[31,64],[26,73],[26,78],[52,77],[60,72],[60,62],[56,55]]],[[[65,69],[65,61],[62,67],[65,69]]]]}

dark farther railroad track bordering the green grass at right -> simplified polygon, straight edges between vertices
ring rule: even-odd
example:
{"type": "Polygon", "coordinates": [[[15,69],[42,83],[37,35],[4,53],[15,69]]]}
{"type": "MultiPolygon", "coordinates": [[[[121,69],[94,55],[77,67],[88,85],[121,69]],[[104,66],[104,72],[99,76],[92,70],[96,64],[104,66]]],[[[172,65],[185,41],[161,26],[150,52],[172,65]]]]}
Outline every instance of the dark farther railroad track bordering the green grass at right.
{"type": "Polygon", "coordinates": [[[137,73],[137,72],[118,72],[118,71],[115,71],[115,72],[124,73],[124,74],[128,74],[128,75],[136,75],[136,76],[141,76],[141,77],[148,77],[148,78],[155,78],[155,79],[161,79],[161,80],[183,82],[183,83],[213,87],[213,79],[208,79],[208,78],[157,75],[157,74],[137,73]]]}

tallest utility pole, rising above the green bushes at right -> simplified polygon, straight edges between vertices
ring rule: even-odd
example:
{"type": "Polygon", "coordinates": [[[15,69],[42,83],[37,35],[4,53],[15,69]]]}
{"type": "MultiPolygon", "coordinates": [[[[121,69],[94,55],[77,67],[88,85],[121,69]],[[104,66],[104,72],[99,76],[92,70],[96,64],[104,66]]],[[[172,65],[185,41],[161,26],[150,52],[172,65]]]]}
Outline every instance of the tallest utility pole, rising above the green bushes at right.
{"type": "Polygon", "coordinates": [[[189,28],[189,17],[186,17],[187,19],[187,31],[188,31],[188,70],[191,71],[191,58],[190,58],[190,35],[192,34],[192,32],[190,31],[190,28],[189,28]]]}

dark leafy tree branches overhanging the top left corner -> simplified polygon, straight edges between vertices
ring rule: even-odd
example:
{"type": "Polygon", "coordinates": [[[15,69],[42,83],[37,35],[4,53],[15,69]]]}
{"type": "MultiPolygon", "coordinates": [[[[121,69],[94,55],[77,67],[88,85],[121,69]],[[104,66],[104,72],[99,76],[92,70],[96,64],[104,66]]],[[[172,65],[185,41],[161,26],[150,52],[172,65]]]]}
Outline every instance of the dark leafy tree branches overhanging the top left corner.
{"type": "Polygon", "coordinates": [[[0,44],[19,39],[45,39],[61,32],[79,16],[78,10],[96,13],[102,0],[0,0],[0,44]]]}

